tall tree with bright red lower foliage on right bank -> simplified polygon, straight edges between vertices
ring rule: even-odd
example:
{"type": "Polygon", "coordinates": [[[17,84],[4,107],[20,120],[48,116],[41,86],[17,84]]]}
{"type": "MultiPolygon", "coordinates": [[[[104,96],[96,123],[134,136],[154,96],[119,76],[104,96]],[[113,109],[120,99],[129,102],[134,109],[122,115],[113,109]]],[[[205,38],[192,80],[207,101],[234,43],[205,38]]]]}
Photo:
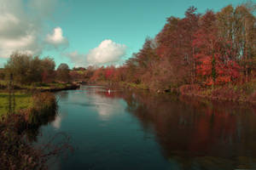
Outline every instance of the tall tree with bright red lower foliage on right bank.
{"type": "Polygon", "coordinates": [[[201,18],[200,29],[195,34],[194,47],[197,53],[197,72],[207,85],[235,81],[239,77],[239,66],[233,59],[232,43],[218,37],[216,15],[207,11],[201,18]]]}

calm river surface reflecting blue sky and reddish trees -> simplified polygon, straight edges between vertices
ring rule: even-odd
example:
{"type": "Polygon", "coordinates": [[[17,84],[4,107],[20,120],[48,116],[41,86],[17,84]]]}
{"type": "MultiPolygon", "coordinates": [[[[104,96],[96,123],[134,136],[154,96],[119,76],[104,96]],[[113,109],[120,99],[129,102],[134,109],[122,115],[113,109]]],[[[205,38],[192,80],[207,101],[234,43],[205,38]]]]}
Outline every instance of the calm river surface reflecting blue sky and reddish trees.
{"type": "Polygon", "coordinates": [[[38,143],[65,133],[74,150],[50,169],[256,168],[251,106],[99,86],[55,96],[59,114],[38,143]]]}

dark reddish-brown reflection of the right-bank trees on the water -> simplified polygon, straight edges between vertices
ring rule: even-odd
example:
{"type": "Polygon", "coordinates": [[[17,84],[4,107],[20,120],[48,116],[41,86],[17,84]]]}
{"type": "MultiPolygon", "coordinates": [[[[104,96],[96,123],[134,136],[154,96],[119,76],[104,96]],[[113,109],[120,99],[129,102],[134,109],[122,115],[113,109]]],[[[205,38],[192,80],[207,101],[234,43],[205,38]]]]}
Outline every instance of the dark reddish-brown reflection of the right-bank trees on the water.
{"type": "Polygon", "coordinates": [[[127,91],[97,94],[125,99],[144,131],[177,169],[256,168],[256,110],[252,106],[127,91]]]}

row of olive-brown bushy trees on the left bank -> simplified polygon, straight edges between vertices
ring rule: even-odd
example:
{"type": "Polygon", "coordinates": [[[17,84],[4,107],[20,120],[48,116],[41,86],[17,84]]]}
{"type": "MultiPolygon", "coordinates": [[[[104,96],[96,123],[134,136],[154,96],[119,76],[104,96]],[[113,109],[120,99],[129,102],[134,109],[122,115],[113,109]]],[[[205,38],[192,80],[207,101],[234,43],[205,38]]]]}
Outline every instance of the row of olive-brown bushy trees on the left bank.
{"type": "Polygon", "coordinates": [[[61,64],[55,70],[55,61],[52,58],[40,59],[38,56],[14,53],[0,71],[0,79],[9,80],[13,75],[16,83],[30,85],[56,81],[69,82],[69,74],[70,69],[67,64],[61,64]]]}

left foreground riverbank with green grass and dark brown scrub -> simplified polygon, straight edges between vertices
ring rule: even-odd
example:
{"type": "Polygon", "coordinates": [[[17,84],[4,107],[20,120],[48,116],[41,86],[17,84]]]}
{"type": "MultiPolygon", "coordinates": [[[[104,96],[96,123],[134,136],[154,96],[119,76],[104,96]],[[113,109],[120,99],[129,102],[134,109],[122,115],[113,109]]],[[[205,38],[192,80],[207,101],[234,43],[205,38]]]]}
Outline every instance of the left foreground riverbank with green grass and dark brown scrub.
{"type": "MultiPolygon", "coordinates": [[[[7,101],[7,94],[0,94],[1,104],[7,101]]],[[[0,121],[0,167],[3,169],[46,169],[45,162],[54,153],[46,154],[36,149],[27,138],[35,139],[38,128],[54,120],[57,102],[53,94],[15,94],[14,114],[4,114],[0,121]],[[18,111],[20,108],[22,110],[18,111]]],[[[7,102],[8,105],[8,102],[7,102]]]]}

